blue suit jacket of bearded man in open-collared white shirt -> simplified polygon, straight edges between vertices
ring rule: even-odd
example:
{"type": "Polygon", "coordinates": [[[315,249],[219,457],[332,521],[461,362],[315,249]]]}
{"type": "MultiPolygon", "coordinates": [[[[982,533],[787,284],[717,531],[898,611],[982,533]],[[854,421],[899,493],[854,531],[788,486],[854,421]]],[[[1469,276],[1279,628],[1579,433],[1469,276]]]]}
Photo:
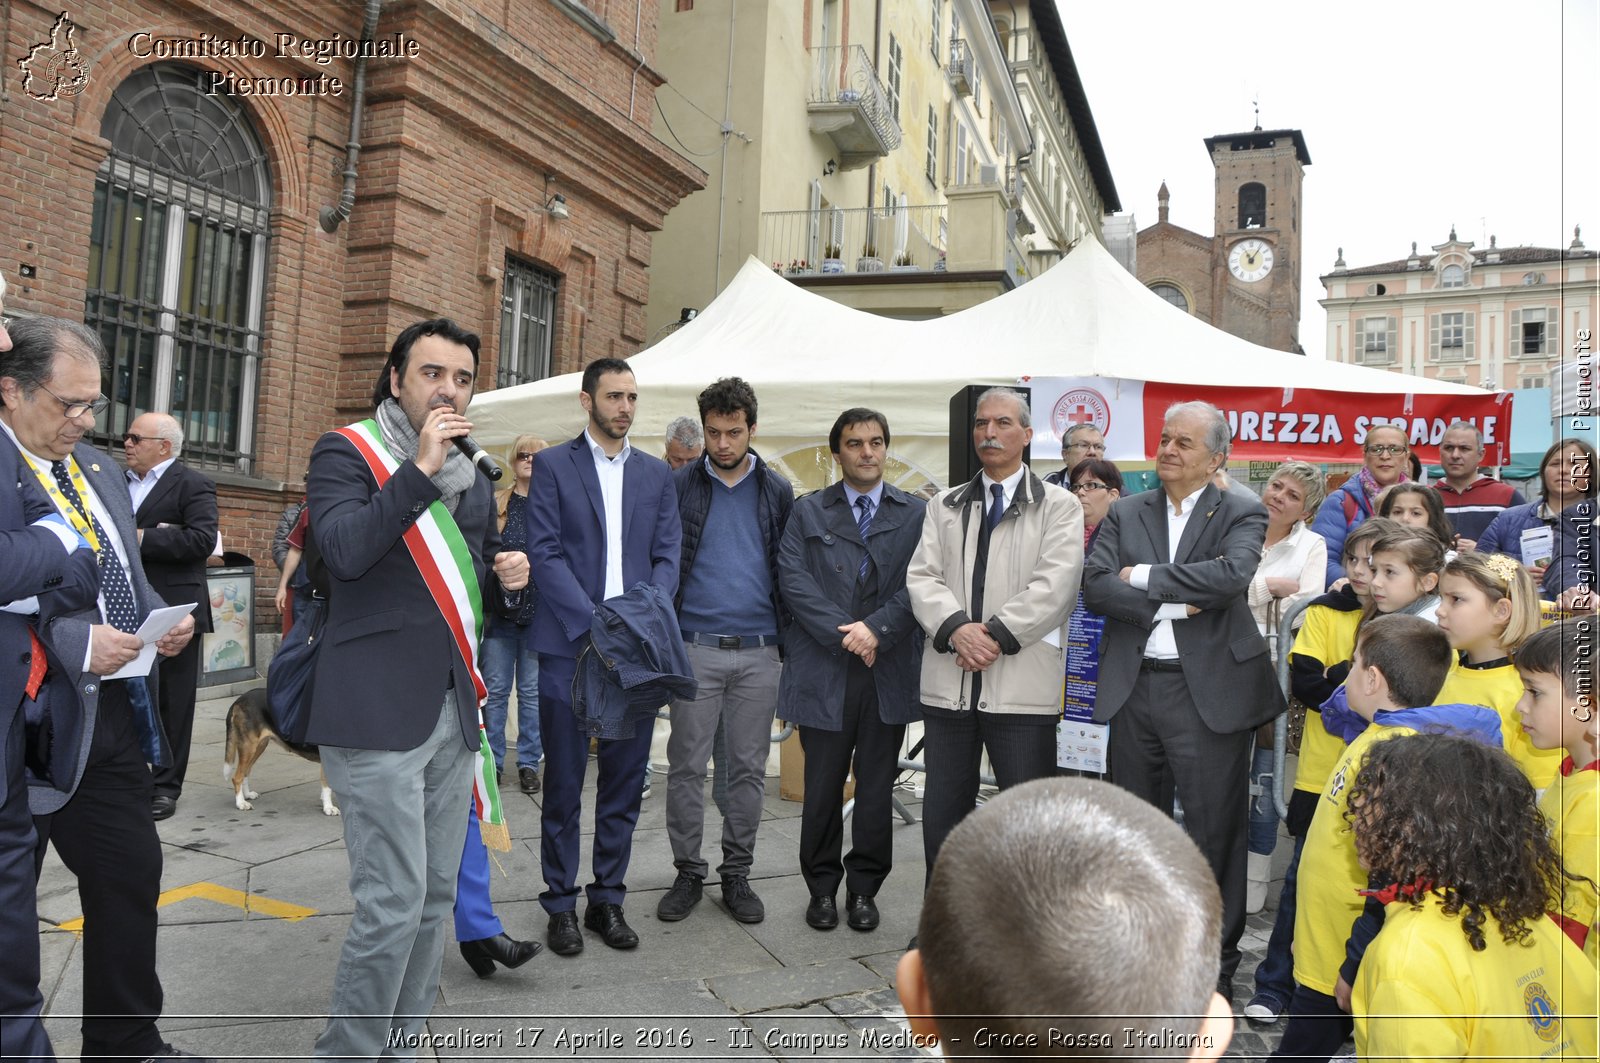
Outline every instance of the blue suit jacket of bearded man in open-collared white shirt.
{"type": "MultiPolygon", "coordinates": [[[[539,588],[530,648],[578,656],[605,597],[605,499],[587,437],[541,450],[528,485],[528,562],[539,588]]],[[[622,471],[622,589],[653,583],[669,600],[677,596],[682,543],[667,463],[632,450],[622,471]]]]}

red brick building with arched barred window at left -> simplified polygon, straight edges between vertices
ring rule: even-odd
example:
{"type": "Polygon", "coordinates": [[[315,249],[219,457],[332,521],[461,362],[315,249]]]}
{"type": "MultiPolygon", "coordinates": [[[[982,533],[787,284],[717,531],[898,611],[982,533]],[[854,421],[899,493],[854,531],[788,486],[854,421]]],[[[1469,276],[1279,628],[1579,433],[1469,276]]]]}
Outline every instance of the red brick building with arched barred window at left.
{"type": "Polygon", "coordinates": [[[653,0],[18,0],[0,40],[6,311],[104,336],[96,443],[179,419],[266,610],[278,512],[400,328],[480,333],[480,389],[632,354],[704,181],[650,133],[653,0]]]}

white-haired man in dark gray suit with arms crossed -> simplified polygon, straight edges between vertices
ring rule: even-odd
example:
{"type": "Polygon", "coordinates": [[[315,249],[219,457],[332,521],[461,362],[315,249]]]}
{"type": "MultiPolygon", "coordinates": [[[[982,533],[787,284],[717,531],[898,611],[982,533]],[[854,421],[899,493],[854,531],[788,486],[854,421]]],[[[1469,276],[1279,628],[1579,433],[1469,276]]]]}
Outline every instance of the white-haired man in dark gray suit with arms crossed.
{"type": "Polygon", "coordinates": [[[1283,711],[1267,644],[1245,600],[1267,511],[1211,475],[1227,458],[1222,413],[1166,411],[1162,490],[1112,503],[1083,567],[1083,604],[1106,616],[1094,719],[1112,722],[1110,776],[1160,804],[1170,770],[1184,826],[1222,890],[1218,993],[1232,999],[1245,930],[1250,736],[1283,711]]]}

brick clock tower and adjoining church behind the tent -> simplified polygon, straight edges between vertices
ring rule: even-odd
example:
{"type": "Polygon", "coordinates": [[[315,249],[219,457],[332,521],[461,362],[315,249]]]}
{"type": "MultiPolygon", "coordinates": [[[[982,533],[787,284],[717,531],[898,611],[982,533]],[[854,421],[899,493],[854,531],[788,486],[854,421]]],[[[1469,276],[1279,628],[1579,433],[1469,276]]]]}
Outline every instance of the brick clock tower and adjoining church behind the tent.
{"type": "Polygon", "coordinates": [[[1168,221],[1139,231],[1138,277],[1173,306],[1240,339],[1304,354],[1299,344],[1301,218],[1310,154],[1299,130],[1227,133],[1205,141],[1216,168],[1214,229],[1168,221]]]}

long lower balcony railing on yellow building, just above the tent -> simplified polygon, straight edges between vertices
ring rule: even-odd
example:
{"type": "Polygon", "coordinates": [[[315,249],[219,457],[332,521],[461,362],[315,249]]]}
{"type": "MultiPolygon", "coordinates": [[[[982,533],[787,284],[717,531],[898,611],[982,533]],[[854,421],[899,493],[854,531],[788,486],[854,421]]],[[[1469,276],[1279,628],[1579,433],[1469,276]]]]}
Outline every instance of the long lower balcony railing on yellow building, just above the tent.
{"type": "Polygon", "coordinates": [[[942,269],[947,229],[942,205],[766,211],[760,256],[784,272],[878,272],[894,269],[896,258],[907,259],[901,269],[942,269]],[[837,264],[824,264],[830,247],[838,248],[837,264]]]}

